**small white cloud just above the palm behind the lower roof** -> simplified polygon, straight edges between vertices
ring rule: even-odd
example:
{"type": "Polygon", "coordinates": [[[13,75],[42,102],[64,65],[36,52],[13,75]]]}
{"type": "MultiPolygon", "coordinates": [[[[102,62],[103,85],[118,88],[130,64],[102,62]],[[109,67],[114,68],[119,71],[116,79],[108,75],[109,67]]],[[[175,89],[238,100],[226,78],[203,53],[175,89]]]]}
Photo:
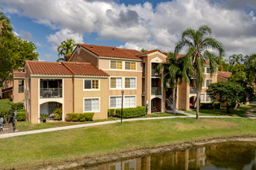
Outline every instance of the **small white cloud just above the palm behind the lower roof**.
{"type": "Polygon", "coordinates": [[[61,42],[66,39],[74,39],[75,43],[82,43],[83,35],[78,32],[73,32],[69,29],[61,29],[61,31],[58,31],[55,34],[50,34],[49,36],[47,36],[47,41],[52,44],[53,51],[56,51],[57,46],[59,46],[61,42]]]}

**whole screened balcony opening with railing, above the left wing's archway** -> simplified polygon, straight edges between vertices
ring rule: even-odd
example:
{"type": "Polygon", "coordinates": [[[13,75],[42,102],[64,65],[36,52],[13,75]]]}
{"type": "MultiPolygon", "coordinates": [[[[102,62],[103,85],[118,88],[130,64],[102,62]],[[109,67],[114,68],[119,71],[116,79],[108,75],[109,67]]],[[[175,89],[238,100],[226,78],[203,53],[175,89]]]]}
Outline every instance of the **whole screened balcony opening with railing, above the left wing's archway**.
{"type": "Polygon", "coordinates": [[[62,80],[40,80],[40,98],[61,98],[62,80]]]}

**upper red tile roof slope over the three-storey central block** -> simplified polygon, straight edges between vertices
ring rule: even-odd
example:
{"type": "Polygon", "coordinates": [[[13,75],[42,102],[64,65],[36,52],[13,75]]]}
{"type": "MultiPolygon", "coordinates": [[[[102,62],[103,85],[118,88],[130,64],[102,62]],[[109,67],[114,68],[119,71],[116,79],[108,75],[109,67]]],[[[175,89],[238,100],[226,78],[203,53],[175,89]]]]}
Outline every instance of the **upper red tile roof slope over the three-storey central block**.
{"type": "Polygon", "coordinates": [[[79,45],[85,49],[88,49],[90,52],[95,53],[97,56],[108,56],[123,59],[140,59],[139,57],[135,56],[135,54],[140,54],[140,52],[135,49],[121,49],[114,46],[98,46],[90,44],[79,45]]]}

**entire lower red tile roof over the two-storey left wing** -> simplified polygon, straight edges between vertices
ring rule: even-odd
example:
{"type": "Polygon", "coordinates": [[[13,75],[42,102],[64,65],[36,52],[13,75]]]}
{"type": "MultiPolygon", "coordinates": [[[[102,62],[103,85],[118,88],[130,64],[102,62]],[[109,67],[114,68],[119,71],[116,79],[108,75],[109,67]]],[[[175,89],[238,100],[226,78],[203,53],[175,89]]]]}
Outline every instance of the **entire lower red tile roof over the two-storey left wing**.
{"type": "Polygon", "coordinates": [[[54,76],[109,76],[91,63],[26,61],[30,74],[54,76]]]}

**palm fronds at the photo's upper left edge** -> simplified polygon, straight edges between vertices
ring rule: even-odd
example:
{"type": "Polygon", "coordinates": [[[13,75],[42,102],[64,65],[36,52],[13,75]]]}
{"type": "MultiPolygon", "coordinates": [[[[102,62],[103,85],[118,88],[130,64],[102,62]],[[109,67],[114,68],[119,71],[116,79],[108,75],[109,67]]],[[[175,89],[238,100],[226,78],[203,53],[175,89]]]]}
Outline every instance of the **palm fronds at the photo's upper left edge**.
{"type": "Polygon", "coordinates": [[[10,34],[12,34],[11,23],[4,13],[0,12],[0,36],[3,37],[10,34]]]}

